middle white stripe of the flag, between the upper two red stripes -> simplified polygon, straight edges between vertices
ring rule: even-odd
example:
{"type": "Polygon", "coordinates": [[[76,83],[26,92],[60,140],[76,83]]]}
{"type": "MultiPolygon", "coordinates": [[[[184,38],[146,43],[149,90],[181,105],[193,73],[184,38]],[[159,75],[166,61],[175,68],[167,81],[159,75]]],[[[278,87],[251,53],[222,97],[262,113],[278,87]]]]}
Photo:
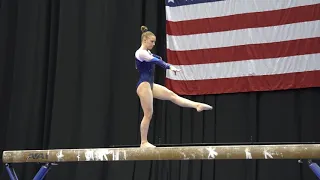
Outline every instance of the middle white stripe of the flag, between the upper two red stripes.
{"type": "Polygon", "coordinates": [[[280,26],[249,28],[205,34],[184,36],[167,35],[167,48],[172,51],[186,51],[281,42],[319,36],[320,20],[317,20],[280,26]]]}

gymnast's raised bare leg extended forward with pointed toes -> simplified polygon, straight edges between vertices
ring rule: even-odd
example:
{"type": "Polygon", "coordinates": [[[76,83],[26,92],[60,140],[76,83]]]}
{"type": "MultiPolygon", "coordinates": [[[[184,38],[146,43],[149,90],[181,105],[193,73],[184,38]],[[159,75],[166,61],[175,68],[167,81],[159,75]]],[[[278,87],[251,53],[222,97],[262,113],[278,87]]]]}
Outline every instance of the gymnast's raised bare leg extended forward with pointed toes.
{"type": "Polygon", "coordinates": [[[199,102],[194,102],[189,99],[183,98],[172,92],[171,90],[167,89],[164,86],[161,86],[159,84],[153,84],[153,97],[160,100],[169,100],[181,107],[187,107],[187,108],[194,108],[198,112],[201,112],[203,110],[211,110],[212,107],[199,102]]]}

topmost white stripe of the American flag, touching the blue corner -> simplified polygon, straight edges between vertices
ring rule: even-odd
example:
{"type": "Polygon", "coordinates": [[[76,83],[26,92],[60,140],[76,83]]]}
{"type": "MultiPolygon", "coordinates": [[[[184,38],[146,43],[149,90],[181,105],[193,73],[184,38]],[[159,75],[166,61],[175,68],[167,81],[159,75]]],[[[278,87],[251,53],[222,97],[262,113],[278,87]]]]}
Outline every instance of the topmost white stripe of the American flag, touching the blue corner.
{"type": "Polygon", "coordinates": [[[272,11],[319,3],[319,0],[226,0],[187,6],[166,6],[166,18],[168,21],[175,22],[243,13],[272,11]]]}

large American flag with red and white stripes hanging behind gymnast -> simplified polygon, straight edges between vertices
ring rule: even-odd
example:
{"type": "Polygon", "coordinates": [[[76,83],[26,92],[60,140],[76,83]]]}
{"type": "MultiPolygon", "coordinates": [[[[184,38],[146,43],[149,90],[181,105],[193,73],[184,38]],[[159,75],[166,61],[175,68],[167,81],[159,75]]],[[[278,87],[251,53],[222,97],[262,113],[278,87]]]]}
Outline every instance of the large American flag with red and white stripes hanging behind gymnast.
{"type": "Polygon", "coordinates": [[[320,0],[166,0],[166,86],[182,95],[320,86],[320,0]]]}

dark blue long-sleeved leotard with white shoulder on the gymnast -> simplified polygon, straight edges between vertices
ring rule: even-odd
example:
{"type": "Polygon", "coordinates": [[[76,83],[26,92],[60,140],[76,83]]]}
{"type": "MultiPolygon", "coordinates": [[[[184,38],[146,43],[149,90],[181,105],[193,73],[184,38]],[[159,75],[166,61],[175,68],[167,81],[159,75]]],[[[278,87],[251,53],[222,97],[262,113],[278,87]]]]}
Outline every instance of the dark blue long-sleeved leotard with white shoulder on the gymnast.
{"type": "Polygon", "coordinates": [[[136,88],[138,88],[142,82],[149,82],[151,88],[153,88],[155,65],[159,65],[164,69],[170,69],[170,64],[162,61],[159,56],[147,50],[138,49],[135,53],[135,58],[136,68],[139,72],[139,80],[136,88]]]}

